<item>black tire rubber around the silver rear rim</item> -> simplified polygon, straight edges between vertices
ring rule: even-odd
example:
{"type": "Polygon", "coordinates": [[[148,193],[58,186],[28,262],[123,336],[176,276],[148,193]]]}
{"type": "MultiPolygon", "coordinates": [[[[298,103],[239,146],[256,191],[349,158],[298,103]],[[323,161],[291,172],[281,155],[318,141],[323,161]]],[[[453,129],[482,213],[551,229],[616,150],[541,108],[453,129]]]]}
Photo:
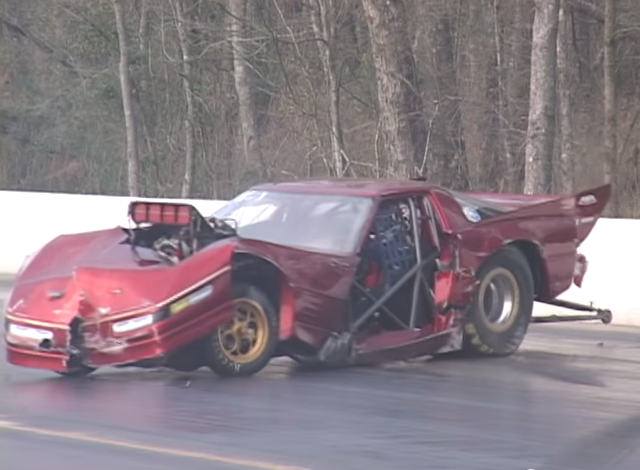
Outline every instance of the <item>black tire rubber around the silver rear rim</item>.
{"type": "Polygon", "coordinates": [[[524,340],[533,315],[533,275],[524,255],[516,248],[505,247],[485,262],[477,278],[482,282],[487,274],[497,268],[508,270],[516,279],[520,291],[518,313],[513,324],[505,331],[492,330],[479,312],[481,299],[478,289],[464,324],[464,349],[476,354],[506,356],[514,353],[524,340]]]}

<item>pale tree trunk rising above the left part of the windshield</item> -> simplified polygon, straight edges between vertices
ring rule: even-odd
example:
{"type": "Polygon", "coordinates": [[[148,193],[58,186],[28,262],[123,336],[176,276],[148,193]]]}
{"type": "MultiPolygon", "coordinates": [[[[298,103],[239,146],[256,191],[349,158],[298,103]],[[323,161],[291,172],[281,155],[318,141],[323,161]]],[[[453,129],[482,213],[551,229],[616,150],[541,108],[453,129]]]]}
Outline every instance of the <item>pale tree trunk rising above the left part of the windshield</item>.
{"type": "Polygon", "coordinates": [[[268,172],[260,146],[257,104],[252,91],[251,66],[248,63],[249,54],[245,45],[244,25],[247,21],[247,1],[229,0],[233,75],[238,95],[238,114],[242,128],[245,168],[257,166],[260,169],[260,179],[264,179],[267,177],[268,172]]]}

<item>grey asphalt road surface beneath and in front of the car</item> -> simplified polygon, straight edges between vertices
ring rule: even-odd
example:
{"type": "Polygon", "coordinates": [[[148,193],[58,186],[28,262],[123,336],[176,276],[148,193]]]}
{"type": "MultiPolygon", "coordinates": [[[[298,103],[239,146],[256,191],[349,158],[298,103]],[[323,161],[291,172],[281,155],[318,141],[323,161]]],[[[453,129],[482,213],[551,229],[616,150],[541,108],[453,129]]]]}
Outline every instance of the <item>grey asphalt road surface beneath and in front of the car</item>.
{"type": "MultiPolygon", "coordinates": [[[[0,296],[7,286],[0,285],[0,296]]],[[[640,330],[533,325],[521,351],[247,379],[0,357],[2,470],[637,470],[640,330]]]]}

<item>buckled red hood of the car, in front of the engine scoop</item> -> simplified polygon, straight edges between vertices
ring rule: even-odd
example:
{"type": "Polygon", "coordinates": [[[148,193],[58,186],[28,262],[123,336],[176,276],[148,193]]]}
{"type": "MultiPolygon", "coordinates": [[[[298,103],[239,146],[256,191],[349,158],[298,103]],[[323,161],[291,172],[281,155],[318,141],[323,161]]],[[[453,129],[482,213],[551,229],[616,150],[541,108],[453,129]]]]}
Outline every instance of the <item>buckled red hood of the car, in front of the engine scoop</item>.
{"type": "Polygon", "coordinates": [[[230,265],[234,240],[221,240],[176,266],[153,251],[124,244],[121,228],[60,236],[33,256],[11,292],[7,313],[68,324],[92,317],[153,309],[230,265]]]}

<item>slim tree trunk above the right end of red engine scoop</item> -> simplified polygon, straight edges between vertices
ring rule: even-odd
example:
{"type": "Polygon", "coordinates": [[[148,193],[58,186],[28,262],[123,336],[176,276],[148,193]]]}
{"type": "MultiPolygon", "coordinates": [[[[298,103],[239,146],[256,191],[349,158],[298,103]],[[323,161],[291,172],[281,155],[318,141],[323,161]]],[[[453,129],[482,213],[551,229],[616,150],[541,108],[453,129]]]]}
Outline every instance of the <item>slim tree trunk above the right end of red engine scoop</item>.
{"type": "Polygon", "coordinates": [[[184,136],[185,136],[185,155],[184,155],[184,178],[182,179],[181,197],[189,197],[191,193],[191,185],[193,180],[194,168],[194,125],[195,110],[193,107],[193,90],[191,89],[191,81],[193,79],[191,73],[191,62],[193,58],[190,53],[189,38],[187,36],[187,28],[185,24],[185,7],[184,0],[176,0],[174,2],[176,11],[176,27],[178,29],[178,40],[180,41],[180,50],[182,52],[182,87],[184,88],[185,103],[187,105],[187,115],[184,120],[184,136]]]}

